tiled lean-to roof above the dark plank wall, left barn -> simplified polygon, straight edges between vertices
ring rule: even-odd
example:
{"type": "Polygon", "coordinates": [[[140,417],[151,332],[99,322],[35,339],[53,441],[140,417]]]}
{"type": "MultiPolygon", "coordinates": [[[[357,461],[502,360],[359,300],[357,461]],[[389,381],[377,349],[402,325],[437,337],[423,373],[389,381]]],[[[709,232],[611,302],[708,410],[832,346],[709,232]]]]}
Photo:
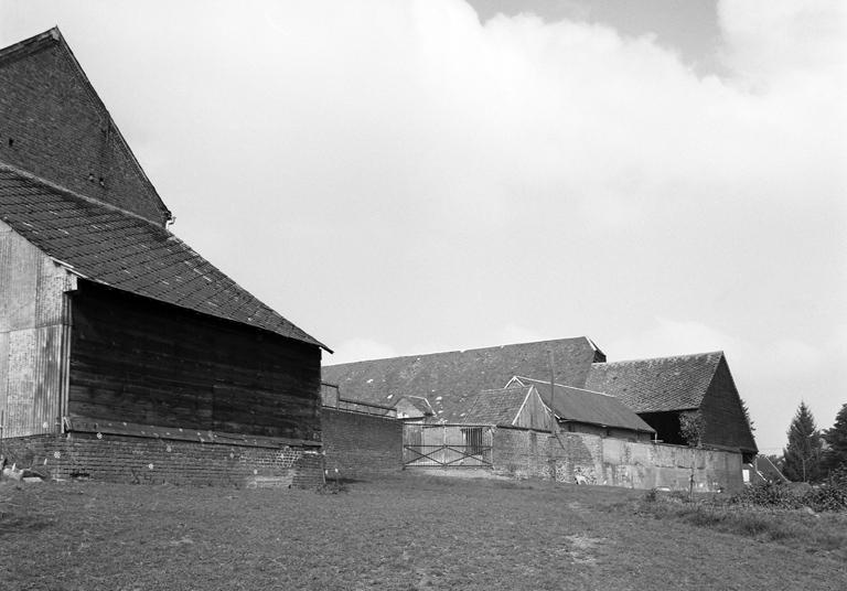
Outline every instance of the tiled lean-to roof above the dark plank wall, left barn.
{"type": "Polygon", "coordinates": [[[326,348],[161,226],[2,164],[0,219],[90,281],[326,348]]]}

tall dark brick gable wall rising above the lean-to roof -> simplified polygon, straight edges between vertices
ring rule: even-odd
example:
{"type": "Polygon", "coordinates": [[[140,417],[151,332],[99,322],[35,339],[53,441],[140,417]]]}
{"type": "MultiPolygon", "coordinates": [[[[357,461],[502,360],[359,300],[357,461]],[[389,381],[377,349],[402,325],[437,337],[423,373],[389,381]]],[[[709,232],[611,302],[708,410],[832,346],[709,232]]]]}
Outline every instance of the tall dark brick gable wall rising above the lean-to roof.
{"type": "Polygon", "coordinates": [[[0,161],[164,224],[164,204],[57,41],[0,64],[0,161]]]}

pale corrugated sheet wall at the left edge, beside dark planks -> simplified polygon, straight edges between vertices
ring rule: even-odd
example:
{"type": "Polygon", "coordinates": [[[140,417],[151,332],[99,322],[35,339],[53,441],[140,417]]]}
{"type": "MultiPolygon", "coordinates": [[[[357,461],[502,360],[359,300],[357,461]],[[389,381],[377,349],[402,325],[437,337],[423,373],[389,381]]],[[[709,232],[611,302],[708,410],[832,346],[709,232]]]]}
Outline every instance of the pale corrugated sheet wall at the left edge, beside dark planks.
{"type": "Polygon", "coordinates": [[[73,277],[0,222],[0,413],[2,437],[61,429],[64,292],[73,277]]]}

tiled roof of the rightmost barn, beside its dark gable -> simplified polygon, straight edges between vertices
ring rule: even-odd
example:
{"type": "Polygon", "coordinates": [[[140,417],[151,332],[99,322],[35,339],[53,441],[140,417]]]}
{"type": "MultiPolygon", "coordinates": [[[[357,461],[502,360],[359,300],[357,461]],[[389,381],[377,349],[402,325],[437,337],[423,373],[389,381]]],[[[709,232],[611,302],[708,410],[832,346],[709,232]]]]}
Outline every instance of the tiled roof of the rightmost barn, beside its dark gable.
{"type": "Polygon", "coordinates": [[[635,412],[699,408],[723,353],[596,363],[589,390],[611,394],[635,412]]]}

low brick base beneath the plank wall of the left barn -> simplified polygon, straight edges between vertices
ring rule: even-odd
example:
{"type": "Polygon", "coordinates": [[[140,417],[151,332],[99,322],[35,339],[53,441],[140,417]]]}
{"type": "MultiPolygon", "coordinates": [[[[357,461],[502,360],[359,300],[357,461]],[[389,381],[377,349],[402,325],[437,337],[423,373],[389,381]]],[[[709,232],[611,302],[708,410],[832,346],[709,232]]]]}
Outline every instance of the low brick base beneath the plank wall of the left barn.
{"type": "Polygon", "coordinates": [[[94,433],[3,440],[8,462],[51,479],[135,484],[312,487],[323,482],[319,448],[257,448],[94,433]]]}

